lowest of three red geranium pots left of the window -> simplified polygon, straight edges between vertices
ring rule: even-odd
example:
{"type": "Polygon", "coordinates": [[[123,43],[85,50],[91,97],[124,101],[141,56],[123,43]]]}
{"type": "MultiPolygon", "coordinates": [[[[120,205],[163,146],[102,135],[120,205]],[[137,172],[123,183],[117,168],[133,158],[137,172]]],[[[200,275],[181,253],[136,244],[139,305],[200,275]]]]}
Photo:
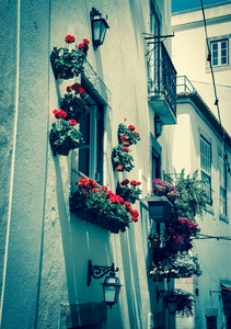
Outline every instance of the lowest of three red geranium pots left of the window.
{"type": "Polygon", "coordinates": [[[49,140],[54,156],[56,154],[68,156],[71,149],[78,148],[83,143],[82,134],[76,129],[77,122],[74,120],[66,121],[67,113],[62,110],[55,110],[56,123],[53,124],[49,140]]]}

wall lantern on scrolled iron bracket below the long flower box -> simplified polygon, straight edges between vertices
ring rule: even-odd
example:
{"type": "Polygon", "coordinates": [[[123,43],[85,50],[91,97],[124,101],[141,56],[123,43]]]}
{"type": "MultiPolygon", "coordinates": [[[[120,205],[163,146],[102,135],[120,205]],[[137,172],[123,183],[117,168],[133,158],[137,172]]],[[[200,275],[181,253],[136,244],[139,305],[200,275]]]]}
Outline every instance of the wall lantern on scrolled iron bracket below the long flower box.
{"type": "Polygon", "coordinates": [[[112,266],[99,266],[92,265],[92,261],[89,260],[88,286],[90,286],[92,277],[101,279],[107,273],[109,274],[105,277],[104,283],[102,283],[104,302],[109,306],[109,308],[118,302],[118,295],[122,286],[118,277],[115,275],[115,272],[118,271],[119,269],[115,269],[114,263],[112,263],[112,266]]]}

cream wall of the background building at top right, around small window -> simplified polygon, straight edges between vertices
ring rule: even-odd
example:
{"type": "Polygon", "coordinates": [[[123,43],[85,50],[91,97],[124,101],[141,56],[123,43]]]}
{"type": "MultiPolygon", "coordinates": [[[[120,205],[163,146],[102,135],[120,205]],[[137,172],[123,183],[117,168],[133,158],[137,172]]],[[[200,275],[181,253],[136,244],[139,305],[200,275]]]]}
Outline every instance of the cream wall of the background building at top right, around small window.
{"type": "MultiPolygon", "coordinates": [[[[231,30],[231,2],[205,7],[208,37],[229,35],[231,30]]],[[[215,106],[212,78],[207,61],[206,34],[201,10],[188,10],[172,15],[172,59],[178,76],[186,76],[204,101],[218,117],[215,106]]],[[[231,48],[229,48],[231,56],[231,48]]],[[[230,57],[231,58],[231,57],[230,57]]],[[[220,116],[224,128],[231,134],[230,114],[230,65],[223,69],[215,68],[215,81],[219,99],[220,116]]]]}

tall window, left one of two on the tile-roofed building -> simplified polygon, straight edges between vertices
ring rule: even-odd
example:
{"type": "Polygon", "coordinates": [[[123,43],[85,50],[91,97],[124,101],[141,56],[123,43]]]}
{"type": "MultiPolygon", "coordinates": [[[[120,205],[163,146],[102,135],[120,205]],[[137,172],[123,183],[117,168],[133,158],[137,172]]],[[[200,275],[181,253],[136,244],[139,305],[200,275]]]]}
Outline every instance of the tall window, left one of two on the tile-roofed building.
{"type": "Polygon", "coordinates": [[[206,195],[211,205],[211,145],[200,136],[200,173],[201,179],[206,181],[206,195]]]}

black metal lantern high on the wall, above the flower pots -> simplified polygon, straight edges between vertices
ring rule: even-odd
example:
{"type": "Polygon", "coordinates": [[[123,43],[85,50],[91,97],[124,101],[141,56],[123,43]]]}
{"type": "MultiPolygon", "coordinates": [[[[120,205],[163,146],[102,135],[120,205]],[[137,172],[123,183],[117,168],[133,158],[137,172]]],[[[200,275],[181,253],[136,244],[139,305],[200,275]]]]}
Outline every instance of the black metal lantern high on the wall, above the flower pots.
{"type": "Polygon", "coordinates": [[[102,18],[102,14],[95,8],[92,8],[90,12],[91,24],[92,24],[92,43],[96,50],[99,46],[103,45],[106,30],[109,29],[106,20],[102,18]]]}

